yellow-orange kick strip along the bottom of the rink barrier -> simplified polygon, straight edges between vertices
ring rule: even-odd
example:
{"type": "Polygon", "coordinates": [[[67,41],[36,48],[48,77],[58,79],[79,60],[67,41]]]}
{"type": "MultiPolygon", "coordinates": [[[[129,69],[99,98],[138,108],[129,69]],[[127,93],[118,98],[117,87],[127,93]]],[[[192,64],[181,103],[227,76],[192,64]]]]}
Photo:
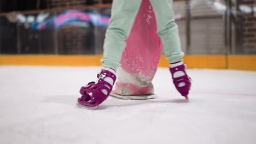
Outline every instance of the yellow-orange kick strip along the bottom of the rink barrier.
{"type": "MultiPolygon", "coordinates": [[[[0,55],[0,65],[100,66],[102,55],[0,55]]],[[[256,55],[186,55],[188,68],[256,70],[256,55]]],[[[162,56],[159,67],[168,67],[162,56]]]]}

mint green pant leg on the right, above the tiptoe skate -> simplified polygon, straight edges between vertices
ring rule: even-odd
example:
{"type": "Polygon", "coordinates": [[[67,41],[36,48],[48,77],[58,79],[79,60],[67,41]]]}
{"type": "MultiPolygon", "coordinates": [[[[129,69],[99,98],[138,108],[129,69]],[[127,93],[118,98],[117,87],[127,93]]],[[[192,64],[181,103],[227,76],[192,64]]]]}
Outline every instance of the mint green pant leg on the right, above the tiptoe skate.
{"type": "Polygon", "coordinates": [[[174,21],[172,0],[150,0],[156,16],[158,35],[161,37],[164,53],[170,63],[182,61],[178,26],[174,21]]]}

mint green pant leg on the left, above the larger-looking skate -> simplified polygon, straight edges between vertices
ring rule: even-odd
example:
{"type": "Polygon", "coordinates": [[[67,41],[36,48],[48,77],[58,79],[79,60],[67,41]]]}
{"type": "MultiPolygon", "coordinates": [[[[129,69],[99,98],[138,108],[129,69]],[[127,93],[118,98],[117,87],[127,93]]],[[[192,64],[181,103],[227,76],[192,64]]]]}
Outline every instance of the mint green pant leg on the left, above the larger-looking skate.
{"type": "Polygon", "coordinates": [[[117,70],[120,67],[122,53],[126,47],[125,40],[130,34],[133,22],[142,0],[114,0],[112,15],[106,31],[103,46],[103,67],[117,70]]]}

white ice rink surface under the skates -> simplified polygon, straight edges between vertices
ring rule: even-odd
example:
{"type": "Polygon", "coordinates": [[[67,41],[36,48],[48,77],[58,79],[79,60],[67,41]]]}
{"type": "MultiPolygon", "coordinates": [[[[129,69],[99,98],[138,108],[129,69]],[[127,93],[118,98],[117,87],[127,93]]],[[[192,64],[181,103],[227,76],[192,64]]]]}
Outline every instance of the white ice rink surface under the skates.
{"type": "Polygon", "coordinates": [[[256,71],[189,69],[187,103],[167,68],[158,99],[75,102],[100,67],[0,67],[0,143],[256,143],[256,71]]]}

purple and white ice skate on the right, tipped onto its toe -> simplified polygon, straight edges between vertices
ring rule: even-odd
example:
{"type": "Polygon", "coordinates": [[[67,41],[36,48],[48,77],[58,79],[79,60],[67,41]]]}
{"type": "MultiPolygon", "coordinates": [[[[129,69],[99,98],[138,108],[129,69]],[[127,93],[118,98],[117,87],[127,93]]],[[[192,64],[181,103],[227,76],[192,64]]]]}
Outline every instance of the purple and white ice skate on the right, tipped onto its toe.
{"type": "Polygon", "coordinates": [[[185,71],[186,65],[183,62],[171,63],[170,71],[174,86],[179,93],[188,99],[189,90],[191,87],[191,79],[185,71]]]}

